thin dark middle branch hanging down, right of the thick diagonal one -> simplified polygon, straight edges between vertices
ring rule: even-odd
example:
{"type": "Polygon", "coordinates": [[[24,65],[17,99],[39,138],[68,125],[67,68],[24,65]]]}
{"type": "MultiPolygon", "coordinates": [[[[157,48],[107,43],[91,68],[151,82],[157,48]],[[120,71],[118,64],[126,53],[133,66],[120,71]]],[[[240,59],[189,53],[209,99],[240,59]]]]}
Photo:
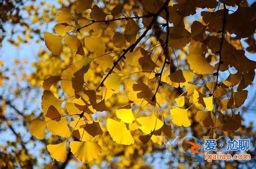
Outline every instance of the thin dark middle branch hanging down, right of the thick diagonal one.
{"type": "Polygon", "coordinates": [[[168,11],[168,7],[165,7],[164,10],[165,10],[165,13],[166,13],[166,39],[165,39],[165,45],[164,45],[164,55],[165,55],[165,57],[164,57],[164,62],[163,62],[163,65],[162,65],[162,69],[160,71],[158,85],[156,87],[155,94],[152,97],[153,102],[155,101],[155,95],[156,95],[159,87],[162,85],[162,83],[161,83],[162,72],[164,70],[164,67],[167,63],[167,59],[168,59],[168,56],[169,56],[169,50],[168,50],[168,43],[169,43],[169,11],[168,11]]]}

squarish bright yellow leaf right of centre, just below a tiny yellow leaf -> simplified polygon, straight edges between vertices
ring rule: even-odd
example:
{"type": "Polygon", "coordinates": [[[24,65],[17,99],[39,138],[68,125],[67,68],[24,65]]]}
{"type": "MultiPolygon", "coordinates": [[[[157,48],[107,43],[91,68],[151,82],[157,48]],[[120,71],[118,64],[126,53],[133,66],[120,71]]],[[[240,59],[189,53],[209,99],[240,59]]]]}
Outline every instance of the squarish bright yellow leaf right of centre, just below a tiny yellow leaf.
{"type": "Polygon", "coordinates": [[[178,126],[189,127],[191,125],[188,117],[188,109],[172,107],[170,110],[172,122],[178,126]]]}

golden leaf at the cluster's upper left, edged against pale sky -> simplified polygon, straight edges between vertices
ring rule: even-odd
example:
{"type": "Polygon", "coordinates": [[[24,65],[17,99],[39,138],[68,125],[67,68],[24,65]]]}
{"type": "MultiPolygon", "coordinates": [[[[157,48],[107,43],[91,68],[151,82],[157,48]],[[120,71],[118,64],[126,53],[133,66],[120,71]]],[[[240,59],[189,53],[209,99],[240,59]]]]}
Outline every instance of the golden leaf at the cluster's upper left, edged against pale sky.
{"type": "Polygon", "coordinates": [[[62,37],[49,32],[44,32],[45,45],[54,55],[60,55],[62,52],[62,37]]]}

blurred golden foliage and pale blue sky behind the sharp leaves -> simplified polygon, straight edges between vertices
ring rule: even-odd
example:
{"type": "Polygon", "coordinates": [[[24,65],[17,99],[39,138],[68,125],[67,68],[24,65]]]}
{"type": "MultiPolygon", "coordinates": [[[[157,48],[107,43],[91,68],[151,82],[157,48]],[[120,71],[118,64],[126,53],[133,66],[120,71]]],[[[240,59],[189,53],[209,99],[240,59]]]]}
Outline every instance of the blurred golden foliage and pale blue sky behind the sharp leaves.
{"type": "MultiPolygon", "coordinates": [[[[1,4],[9,2],[8,0],[1,0],[1,4]]],[[[72,168],[74,166],[81,166],[86,168],[89,166],[99,165],[101,167],[124,167],[125,163],[134,163],[131,166],[137,167],[182,167],[175,163],[175,160],[179,159],[181,154],[172,156],[165,156],[165,151],[162,149],[153,149],[154,144],[147,144],[145,149],[152,149],[152,151],[145,151],[141,155],[137,155],[134,158],[130,158],[126,161],[122,158],[121,154],[112,154],[95,161],[93,163],[80,163],[70,155],[67,163],[57,163],[53,161],[46,150],[48,143],[58,142],[59,137],[52,136],[47,133],[47,137],[43,140],[37,140],[29,133],[29,123],[38,117],[41,113],[41,95],[42,95],[42,81],[52,73],[56,71],[61,73],[61,69],[64,69],[70,63],[64,60],[62,63],[56,60],[48,59],[51,56],[47,51],[45,43],[43,41],[43,32],[52,32],[55,25],[55,15],[58,9],[62,6],[67,6],[70,1],[65,0],[13,0],[9,3],[8,7],[1,7],[1,21],[2,28],[1,40],[0,40],[0,60],[1,60],[1,74],[0,74],[0,166],[7,165],[12,167],[27,167],[31,166],[40,168],[51,167],[65,167],[72,168]],[[5,9],[3,9],[5,8],[5,9]],[[7,14],[4,15],[5,10],[7,14]],[[13,10],[13,12],[11,12],[13,10]],[[19,13],[18,13],[19,11],[19,13]],[[47,60],[47,61],[45,61],[47,60]],[[40,69],[39,69],[40,68],[40,69]],[[138,162],[138,163],[136,163],[138,162]],[[140,163],[139,163],[140,162],[140,163]]],[[[95,4],[104,7],[104,3],[107,1],[97,1],[95,4]]],[[[132,1],[130,2],[132,3],[132,1]]],[[[254,0],[248,0],[249,5],[254,3],[254,0]]],[[[200,9],[199,9],[200,12],[200,9]]],[[[191,23],[197,15],[187,17],[187,23],[191,23]]],[[[243,47],[248,46],[242,39],[243,47]]],[[[256,55],[246,51],[246,56],[256,61],[256,55]]],[[[252,136],[255,140],[255,124],[252,122],[255,120],[255,108],[256,108],[256,88],[255,80],[247,90],[249,95],[241,108],[243,113],[244,126],[240,133],[244,133],[245,136],[252,136]]],[[[186,130],[186,129],[184,129],[186,130]]],[[[189,130],[189,129],[188,129],[189,130]]],[[[196,132],[200,130],[194,130],[188,132],[196,136],[196,132]],[[193,133],[195,132],[195,133],[193,133]]],[[[184,131],[187,133],[186,131],[184,131]]],[[[184,133],[183,133],[184,135],[184,133]]],[[[254,142],[255,143],[255,142],[254,142]]],[[[111,142],[111,145],[116,146],[111,142]]],[[[116,149],[125,149],[117,146],[116,149]]],[[[141,147],[141,149],[143,149],[141,147]]],[[[110,149],[111,150],[111,149],[110,149]]],[[[232,164],[233,166],[238,166],[232,164]]],[[[252,164],[246,164],[248,167],[255,164],[255,157],[251,161],[252,164]]],[[[230,167],[230,163],[217,163],[216,166],[230,167]]],[[[245,164],[242,164],[245,165],[245,164]]]]}

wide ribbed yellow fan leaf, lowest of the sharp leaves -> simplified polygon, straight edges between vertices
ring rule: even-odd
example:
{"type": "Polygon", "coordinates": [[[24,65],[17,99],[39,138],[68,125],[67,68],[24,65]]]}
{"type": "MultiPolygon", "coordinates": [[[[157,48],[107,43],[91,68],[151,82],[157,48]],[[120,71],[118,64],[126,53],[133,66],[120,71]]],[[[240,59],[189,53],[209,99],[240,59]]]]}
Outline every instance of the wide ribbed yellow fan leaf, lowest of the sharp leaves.
{"type": "Polygon", "coordinates": [[[74,156],[82,162],[90,162],[101,154],[101,146],[94,142],[71,141],[69,147],[74,156]]]}

